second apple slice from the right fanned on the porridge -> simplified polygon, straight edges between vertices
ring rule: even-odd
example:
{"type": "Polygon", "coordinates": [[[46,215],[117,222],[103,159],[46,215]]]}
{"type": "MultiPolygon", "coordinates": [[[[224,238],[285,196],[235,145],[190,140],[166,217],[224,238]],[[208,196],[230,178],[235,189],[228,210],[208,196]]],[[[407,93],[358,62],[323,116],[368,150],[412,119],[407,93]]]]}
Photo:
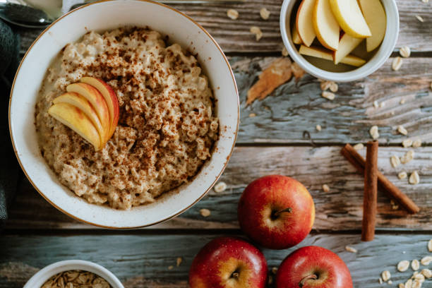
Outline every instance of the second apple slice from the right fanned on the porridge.
{"type": "Polygon", "coordinates": [[[73,83],[66,87],[66,91],[76,92],[85,97],[85,99],[92,104],[93,109],[95,109],[97,116],[99,117],[100,124],[102,124],[102,127],[104,128],[104,140],[102,143],[107,143],[109,131],[111,130],[111,122],[109,121],[107,102],[102,94],[100,94],[99,90],[94,88],[92,85],[85,83],[73,83]]]}

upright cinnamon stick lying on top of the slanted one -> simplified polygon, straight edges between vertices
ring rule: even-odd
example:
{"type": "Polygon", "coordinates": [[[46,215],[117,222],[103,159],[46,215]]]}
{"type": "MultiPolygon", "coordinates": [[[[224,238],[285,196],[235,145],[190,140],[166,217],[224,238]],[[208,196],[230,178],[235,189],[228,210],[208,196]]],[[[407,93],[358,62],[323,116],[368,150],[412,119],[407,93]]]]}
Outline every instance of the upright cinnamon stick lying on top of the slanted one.
{"type": "Polygon", "coordinates": [[[378,189],[378,141],[366,144],[364,165],[363,221],[361,241],[372,241],[375,237],[376,199],[378,189]]]}

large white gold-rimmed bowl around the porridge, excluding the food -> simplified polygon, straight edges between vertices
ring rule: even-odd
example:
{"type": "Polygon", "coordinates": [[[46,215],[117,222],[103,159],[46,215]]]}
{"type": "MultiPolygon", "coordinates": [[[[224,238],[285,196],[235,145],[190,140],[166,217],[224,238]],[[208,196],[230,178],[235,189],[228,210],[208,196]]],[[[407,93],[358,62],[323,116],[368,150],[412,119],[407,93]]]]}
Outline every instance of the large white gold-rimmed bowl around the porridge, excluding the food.
{"type": "MultiPolygon", "coordinates": [[[[36,190],[67,215],[100,227],[128,229],[168,220],[190,208],[215,184],[234,149],[239,128],[239,95],[234,74],[215,40],[198,23],[174,8],[151,1],[102,1],[77,8],[50,25],[25,54],[18,68],[9,104],[9,128],[18,161],[36,190]],[[124,25],[149,26],[169,35],[170,42],[198,53],[198,61],[217,99],[220,140],[198,175],[177,193],[131,210],[89,204],[61,185],[42,158],[35,131],[35,103],[50,61],[67,43],[88,30],[124,25]]],[[[20,197],[20,196],[18,196],[20,197]]]]}

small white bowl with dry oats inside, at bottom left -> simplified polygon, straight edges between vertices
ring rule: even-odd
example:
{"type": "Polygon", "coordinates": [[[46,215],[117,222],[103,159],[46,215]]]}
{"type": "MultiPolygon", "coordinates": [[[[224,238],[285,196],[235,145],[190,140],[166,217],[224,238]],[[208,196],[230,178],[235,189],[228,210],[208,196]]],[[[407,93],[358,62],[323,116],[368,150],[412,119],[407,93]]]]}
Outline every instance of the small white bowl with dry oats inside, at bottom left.
{"type": "Polygon", "coordinates": [[[124,288],[120,280],[101,265],[85,260],[64,260],[43,268],[23,288],[124,288]]]}

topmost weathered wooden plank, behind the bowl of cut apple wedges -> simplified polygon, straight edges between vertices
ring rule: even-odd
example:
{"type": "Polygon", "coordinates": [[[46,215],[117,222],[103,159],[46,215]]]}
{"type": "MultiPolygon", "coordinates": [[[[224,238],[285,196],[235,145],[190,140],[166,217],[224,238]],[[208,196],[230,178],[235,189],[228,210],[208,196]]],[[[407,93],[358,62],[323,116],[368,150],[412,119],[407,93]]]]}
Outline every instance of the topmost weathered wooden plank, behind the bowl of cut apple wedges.
{"type": "MultiPolygon", "coordinates": [[[[280,37],[279,17],[282,0],[248,0],[242,4],[172,4],[204,26],[215,37],[224,52],[280,52],[283,44],[280,37]],[[268,20],[260,18],[260,8],[271,12],[268,20]],[[227,9],[239,11],[239,18],[227,17],[227,9]],[[257,42],[249,32],[256,25],[263,31],[263,38],[257,42]]],[[[400,35],[397,49],[408,45],[414,52],[432,51],[432,6],[421,1],[397,0],[400,13],[400,35]],[[424,18],[424,23],[416,19],[424,18]]],[[[22,50],[30,46],[40,30],[16,28],[23,39],[22,50]]]]}

